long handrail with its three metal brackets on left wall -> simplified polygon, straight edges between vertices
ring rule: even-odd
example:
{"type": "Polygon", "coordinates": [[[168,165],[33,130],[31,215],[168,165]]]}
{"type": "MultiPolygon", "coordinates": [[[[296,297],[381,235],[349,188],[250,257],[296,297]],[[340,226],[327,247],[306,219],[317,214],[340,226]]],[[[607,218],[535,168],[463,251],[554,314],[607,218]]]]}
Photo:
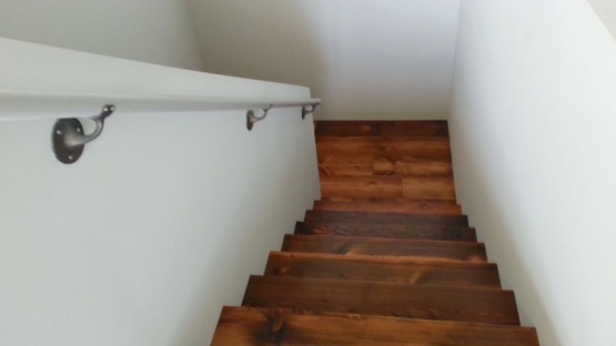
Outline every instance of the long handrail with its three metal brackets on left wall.
{"type": "Polygon", "coordinates": [[[58,119],[52,130],[52,147],[55,157],[67,164],[74,163],[81,156],[84,145],[95,140],[103,129],[104,119],[113,112],[142,113],[155,112],[188,112],[214,110],[246,110],[246,128],[252,130],[254,123],[262,121],[273,108],[301,108],[301,116],[315,112],[321,106],[319,99],[304,100],[257,100],[206,96],[178,95],[119,95],[119,94],[88,94],[88,93],[51,93],[32,91],[0,90],[0,119],[58,119]],[[97,116],[84,116],[94,121],[97,128],[93,133],[85,134],[79,119],[62,113],[69,111],[92,112],[102,106],[97,116]],[[255,109],[262,109],[263,115],[254,115],[255,109]]]}

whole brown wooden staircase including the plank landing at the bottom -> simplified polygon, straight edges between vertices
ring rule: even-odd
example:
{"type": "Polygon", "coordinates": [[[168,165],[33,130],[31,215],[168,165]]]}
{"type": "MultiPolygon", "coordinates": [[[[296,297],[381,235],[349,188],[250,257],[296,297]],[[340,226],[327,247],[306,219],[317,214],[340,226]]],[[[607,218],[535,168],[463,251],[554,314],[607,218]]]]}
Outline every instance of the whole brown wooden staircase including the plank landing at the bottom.
{"type": "Polygon", "coordinates": [[[538,345],[456,204],[446,122],[316,122],[322,200],[212,345],[538,345]]]}

